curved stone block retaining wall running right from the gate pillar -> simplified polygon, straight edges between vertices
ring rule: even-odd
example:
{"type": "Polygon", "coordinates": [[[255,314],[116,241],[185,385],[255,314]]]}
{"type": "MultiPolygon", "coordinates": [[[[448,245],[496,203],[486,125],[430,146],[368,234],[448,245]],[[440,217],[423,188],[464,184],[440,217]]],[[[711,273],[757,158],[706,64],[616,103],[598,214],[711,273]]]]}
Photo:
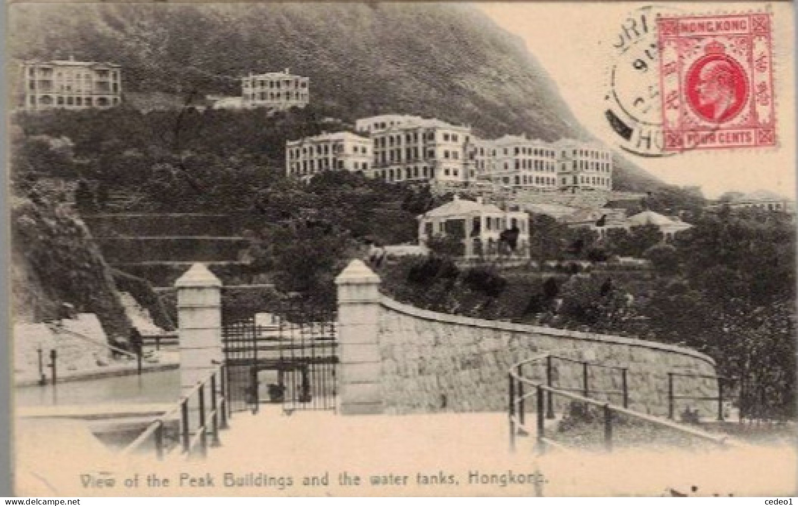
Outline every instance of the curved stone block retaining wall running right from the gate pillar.
{"type": "MultiPolygon", "coordinates": [[[[377,340],[385,413],[506,410],[509,368],[544,351],[627,367],[629,406],[649,414],[667,414],[668,372],[715,374],[713,359],[683,347],[444,315],[385,296],[379,306],[377,340]]],[[[527,367],[525,373],[537,379],[545,377],[543,366],[527,367]]],[[[554,360],[552,376],[555,386],[583,386],[583,366],[579,363],[554,360]]],[[[621,376],[621,371],[589,367],[590,390],[621,390],[621,376]]],[[[714,397],[717,382],[677,377],[674,394],[714,397]]],[[[591,397],[607,399],[601,394],[591,397]]],[[[617,394],[608,400],[622,404],[617,394]]],[[[717,413],[715,401],[679,400],[676,414],[686,406],[699,410],[702,416],[717,413]]],[[[561,402],[558,407],[562,407],[561,402]]]]}

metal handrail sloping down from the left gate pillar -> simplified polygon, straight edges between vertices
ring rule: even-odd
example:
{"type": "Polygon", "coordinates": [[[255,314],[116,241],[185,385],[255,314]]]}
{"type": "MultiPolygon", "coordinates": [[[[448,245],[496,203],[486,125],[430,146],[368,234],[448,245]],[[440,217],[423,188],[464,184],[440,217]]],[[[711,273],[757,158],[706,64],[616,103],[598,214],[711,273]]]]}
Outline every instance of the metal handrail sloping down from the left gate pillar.
{"type": "Polygon", "coordinates": [[[176,406],[153,420],[147,429],[140,433],[132,443],[122,450],[121,454],[123,456],[129,455],[140,449],[140,447],[144,445],[144,441],[148,441],[150,437],[155,437],[156,457],[162,460],[164,458],[164,426],[168,420],[176,418],[180,419],[180,438],[183,441],[182,453],[184,453],[187,458],[192,456],[192,451],[197,441],[202,443],[202,455],[204,456],[207,453],[207,436],[209,431],[212,437],[211,445],[219,445],[219,430],[227,429],[227,399],[229,396],[224,373],[225,366],[219,365],[206,379],[197,382],[187,394],[180,397],[176,406]],[[217,384],[221,387],[220,390],[217,390],[217,384]],[[206,405],[206,387],[210,389],[210,410],[207,410],[206,405]],[[195,396],[198,401],[197,414],[199,416],[199,425],[196,427],[196,432],[192,437],[188,404],[195,396]],[[221,420],[219,420],[219,418],[221,418],[221,420]],[[208,427],[208,420],[211,422],[210,427],[208,427]]]}

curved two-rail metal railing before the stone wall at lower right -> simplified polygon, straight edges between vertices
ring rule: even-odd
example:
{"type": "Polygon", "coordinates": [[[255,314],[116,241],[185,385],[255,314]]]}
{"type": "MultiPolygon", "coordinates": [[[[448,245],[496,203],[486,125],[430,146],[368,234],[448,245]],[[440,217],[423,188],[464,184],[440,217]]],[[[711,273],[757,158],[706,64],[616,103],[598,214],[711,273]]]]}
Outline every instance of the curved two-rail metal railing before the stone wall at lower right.
{"type": "MultiPolygon", "coordinates": [[[[672,373],[676,375],[677,373],[672,373]]],[[[554,398],[559,396],[562,398],[570,399],[571,401],[583,402],[590,406],[598,407],[602,410],[603,429],[604,429],[604,447],[611,450],[613,447],[613,422],[614,414],[626,415],[630,418],[636,418],[645,422],[653,423],[657,426],[674,430],[678,433],[696,437],[704,441],[710,441],[720,446],[733,445],[734,442],[726,436],[719,436],[717,434],[709,433],[704,430],[696,429],[689,426],[683,426],[671,420],[659,418],[650,414],[640,413],[638,411],[629,409],[629,389],[627,384],[628,369],[626,367],[607,366],[604,364],[589,363],[583,360],[575,360],[558,355],[551,355],[550,353],[543,353],[536,355],[531,359],[523,360],[516,363],[508,371],[508,384],[509,384],[509,403],[508,403],[508,418],[510,422],[510,449],[516,449],[516,437],[519,434],[535,433],[536,447],[540,453],[543,453],[548,445],[552,447],[563,448],[564,446],[547,437],[546,433],[546,420],[554,419],[554,398]],[[583,368],[583,385],[579,389],[565,388],[561,386],[554,386],[554,375],[552,374],[552,367],[555,360],[562,360],[569,363],[580,363],[583,368]],[[545,378],[543,380],[531,379],[525,376],[525,370],[533,366],[545,367],[545,378]],[[621,375],[621,390],[591,390],[590,385],[590,368],[599,367],[610,371],[619,371],[621,375]],[[527,391],[527,387],[529,390],[527,391]],[[579,392],[579,393],[575,393],[579,392]],[[595,398],[589,397],[591,394],[604,394],[606,396],[619,396],[622,398],[622,405],[618,406],[611,402],[603,402],[595,398]],[[535,429],[527,426],[526,423],[526,402],[527,398],[535,398],[535,429]]],[[[673,376],[669,375],[669,406],[670,415],[673,416],[673,376]]],[[[722,378],[719,376],[709,375],[696,375],[704,379],[717,379],[720,383],[722,378]]],[[[722,390],[721,390],[722,392],[722,390]]],[[[688,397],[683,397],[688,398],[688,397]]],[[[722,405],[722,394],[719,395],[719,404],[722,405]]],[[[715,399],[715,398],[712,398],[715,399]]],[[[721,414],[722,417],[722,414],[721,414]]]]}

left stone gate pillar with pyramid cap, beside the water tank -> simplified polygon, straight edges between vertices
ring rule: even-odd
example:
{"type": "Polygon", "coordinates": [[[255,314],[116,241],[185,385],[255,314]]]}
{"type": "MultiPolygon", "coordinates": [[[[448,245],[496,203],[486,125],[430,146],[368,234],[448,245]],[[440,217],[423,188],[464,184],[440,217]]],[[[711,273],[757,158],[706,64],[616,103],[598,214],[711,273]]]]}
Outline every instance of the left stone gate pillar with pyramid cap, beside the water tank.
{"type": "Polygon", "coordinates": [[[180,394],[188,394],[223,361],[222,282],[194,264],[175,281],[180,335],[180,394]],[[216,362],[216,363],[214,363],[216,362]]]}

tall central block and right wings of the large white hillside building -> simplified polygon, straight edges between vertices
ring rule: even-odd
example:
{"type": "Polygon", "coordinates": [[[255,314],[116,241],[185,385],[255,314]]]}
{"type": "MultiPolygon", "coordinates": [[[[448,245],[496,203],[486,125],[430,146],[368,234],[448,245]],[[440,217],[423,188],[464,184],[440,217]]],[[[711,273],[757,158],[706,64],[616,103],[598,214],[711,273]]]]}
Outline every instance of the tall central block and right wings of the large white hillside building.
{"type": "Polygon", "coordinates": [[[612,190],[612,155],[595,143],[504,135],[480,139],[471,127],[389,114],[357,120],[373,141],[369,176],[388,182],[492,184],[543,192],[612,190]]]}

